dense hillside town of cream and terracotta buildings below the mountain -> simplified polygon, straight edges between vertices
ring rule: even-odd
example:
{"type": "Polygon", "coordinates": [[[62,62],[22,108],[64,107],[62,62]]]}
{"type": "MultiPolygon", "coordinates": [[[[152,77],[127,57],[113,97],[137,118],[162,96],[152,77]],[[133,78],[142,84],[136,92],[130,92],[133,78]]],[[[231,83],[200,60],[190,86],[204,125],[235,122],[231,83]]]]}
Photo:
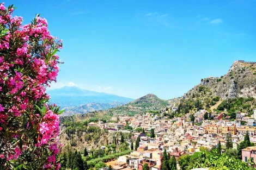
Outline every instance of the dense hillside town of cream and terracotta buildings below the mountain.
{"type": "MultiPolygon", "coordinates": [[[[172,110],[175,109],[175,107],[172,108],[172,110]]],[[[256,142],[256,109],[251,116],[245,112],[237,112],[235,119],[230,119],[229,116],[224,117],[223,113],[212,114],[205,119],[205,114],[206,110],[200,110],[193,114],[193,118],[192,114],[186,114],[173,119],[151,113],[132,117],[118,116],[112,118],[112,121],[117,123],[90,122],[89,127],[124,133],[130,132],[125,130],[127,125],[135,129],[132,140],[127,142],[131,147],[131,141],[137,141],[139,138],[137,150],[106,163],[115,170],[142,170],[145,163],[149,165],[150,170],[160,170],[163,150],[166,150],[170,156],[175,156],[177,160],[182,155],[200,152],[202,147],[212,149],[219,142],[225,146],[227,134],[231,135],[233,148],[237,148],[237,145],[244,140],[246,133],[249,134],[251,142],[256,142]],[[136,131],[136,129],[143,129],[143,131],[136,131]],[[155,137],[148,135],[152,129],[155,137]]],[[[256,158],[256,147],[242,149],[242,161],[247,162],[250,158],[256,158]]]]}

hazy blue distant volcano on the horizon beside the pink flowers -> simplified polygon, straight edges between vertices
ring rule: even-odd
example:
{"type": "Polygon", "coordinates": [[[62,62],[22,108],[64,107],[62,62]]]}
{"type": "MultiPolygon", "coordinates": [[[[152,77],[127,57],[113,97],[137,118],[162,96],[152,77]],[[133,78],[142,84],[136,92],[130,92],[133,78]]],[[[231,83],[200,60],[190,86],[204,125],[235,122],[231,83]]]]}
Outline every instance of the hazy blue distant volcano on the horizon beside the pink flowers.
{"type": "Polygon", "coordinates": [[[84,105],[88,103],[119,103],[125,104],[133,99],[80,89],[76,86],[64,86],[60,89],[48,90],[51,96],[51,102],[56,103],[62,108],[70,106],[84,105]]]}

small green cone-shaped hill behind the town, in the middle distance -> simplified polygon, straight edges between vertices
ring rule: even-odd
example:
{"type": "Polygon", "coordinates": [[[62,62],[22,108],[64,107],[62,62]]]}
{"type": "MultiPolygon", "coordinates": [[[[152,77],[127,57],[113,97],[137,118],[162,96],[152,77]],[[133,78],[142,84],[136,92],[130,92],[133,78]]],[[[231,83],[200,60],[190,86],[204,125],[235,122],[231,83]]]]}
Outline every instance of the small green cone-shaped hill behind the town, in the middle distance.
{"type": "Polygon", "coordinates": [[[169,106],[169,100],[163,100],[158,98],[156,95],[148,94],[116,108],[89,113],[88,116],[99,118],[111,117],[113,115],[133,116],[135,114],[143,114],[143,112],[158,112],[159,110],[166,109],[166,107],[169,106]]]}

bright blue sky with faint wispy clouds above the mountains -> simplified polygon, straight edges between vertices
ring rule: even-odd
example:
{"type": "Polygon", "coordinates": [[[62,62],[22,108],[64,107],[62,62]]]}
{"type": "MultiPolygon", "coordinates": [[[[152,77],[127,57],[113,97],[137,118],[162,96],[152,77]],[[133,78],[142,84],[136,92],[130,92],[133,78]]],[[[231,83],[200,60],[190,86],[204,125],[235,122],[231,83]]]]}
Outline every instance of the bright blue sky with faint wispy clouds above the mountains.
{"type": "Polygon", "coordinates": [[[52,89],[139,98],[184,95],[220,77],[235,60],[256,61],[256,0],[6,1],[29,23],[45,17],[63,40],[64,64],[52,89]]]}

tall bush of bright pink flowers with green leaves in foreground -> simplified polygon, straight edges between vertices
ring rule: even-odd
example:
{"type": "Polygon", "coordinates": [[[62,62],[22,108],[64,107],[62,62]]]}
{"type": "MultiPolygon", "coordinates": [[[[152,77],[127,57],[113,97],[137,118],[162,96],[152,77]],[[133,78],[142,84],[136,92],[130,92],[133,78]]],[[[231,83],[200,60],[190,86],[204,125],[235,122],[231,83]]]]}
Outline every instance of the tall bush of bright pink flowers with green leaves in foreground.
{"type": "Polygon", "coordinates": [[[62,41],[44,18],[23,26],[13,11],[0,4],[0,169],[59,169],[60,111],[46,87],[56,81],[62,41]]]}

